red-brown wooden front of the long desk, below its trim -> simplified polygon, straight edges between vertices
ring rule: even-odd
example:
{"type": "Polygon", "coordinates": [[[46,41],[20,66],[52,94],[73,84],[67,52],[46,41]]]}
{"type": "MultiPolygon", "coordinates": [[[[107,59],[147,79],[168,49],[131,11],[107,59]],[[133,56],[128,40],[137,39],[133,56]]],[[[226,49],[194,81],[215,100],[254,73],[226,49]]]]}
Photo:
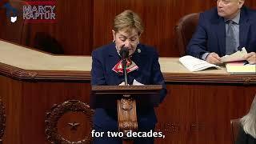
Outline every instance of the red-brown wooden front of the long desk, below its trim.
{"type": "MultiPolygon", "coordinates": [[[[156,108],[157,131],[166,144],[231,144],[230,119],[250,110],[255,85],[167,82],[168,94],[156,108]]],[[[49,143],[46,141],[46,113],[54,104],[68,100],[89,103],[90,82],[22,82],[0,77],[0,98],[6,109],[6,143],[49,143]]],[[[68,122],[89,123],[83,114],[65,114],[58,121],[64,138],[78,141],[90,135],[87,125],[72,133],[68,122]]]]}

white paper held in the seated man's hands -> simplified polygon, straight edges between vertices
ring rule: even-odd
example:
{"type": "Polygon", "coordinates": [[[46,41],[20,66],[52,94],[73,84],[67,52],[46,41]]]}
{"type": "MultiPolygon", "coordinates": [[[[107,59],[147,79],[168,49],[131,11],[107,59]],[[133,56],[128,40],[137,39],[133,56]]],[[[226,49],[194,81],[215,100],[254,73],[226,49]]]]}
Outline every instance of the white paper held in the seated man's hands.
{"type": "Polygon", "coordinates": [[[246,48],[243,47],[242,50],[238,50],[234,54],[225,55],[221,58],[221,62],[234,62],[234,61],[244,61],[243,58],[247,54],[246,48]]]}

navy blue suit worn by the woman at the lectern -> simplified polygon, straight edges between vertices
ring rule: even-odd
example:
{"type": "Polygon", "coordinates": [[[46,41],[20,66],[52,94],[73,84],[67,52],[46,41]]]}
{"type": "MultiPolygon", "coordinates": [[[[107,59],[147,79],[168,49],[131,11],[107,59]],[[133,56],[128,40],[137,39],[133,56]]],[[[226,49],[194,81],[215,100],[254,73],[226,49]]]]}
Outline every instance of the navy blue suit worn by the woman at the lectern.
{"type": "MultiPolygon", "coordinates": [[[[112,70],[120,61],[120,56],[114,43],[94,50],[92,58],[92,86],[118,86],[121,82],[124,82],[124,76],[112,70]]],[[[134,70],[128,74],[128,83],[131,85],[134,79],[136,79],[136,81],[145,85],[162,85],[163,89],[160,93],[160,101],[162,102],[166,96],[166,85],[160,70],[156,50],[150,46],[138,44],[137,50],[134,52],[131,60],[137,64],[138,70],[134,70]]],[[[137,106],[137,109],[138,126],[154,128],[157,122],[154,107],[140,108],[137,106]]],[[[116,106],[110,109],[96,108],[93,121],[94,125],[102,127],[105,130],[118,130],[116,106]]]]}

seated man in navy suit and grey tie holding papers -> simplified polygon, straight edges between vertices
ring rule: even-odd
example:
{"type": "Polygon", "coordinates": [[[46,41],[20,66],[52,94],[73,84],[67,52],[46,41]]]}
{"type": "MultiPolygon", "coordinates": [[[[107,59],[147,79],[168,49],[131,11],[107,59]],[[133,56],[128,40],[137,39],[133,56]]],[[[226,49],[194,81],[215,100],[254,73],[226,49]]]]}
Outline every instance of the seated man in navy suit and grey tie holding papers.
{"type": "Polygon", "coordinates": [[[245,47],[245,59],[256,63],[256,11],[243,6],[245,0],[217,0],[217,7],[200,14],[197,30],[187,54],[213,64],[220,57],[245,47]]]}

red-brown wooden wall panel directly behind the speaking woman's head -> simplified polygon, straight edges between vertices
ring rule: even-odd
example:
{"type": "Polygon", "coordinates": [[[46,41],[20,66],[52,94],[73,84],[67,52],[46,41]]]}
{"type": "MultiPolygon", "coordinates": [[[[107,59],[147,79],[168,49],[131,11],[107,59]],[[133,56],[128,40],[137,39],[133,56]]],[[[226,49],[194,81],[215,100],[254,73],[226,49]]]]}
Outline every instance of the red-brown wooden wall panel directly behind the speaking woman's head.
{"type": "Polygon", "coordinates": [[[161,56],[178,56],[175,48],[174,26],[183,15],[214,6],[213,1],[185,0],[116,0],[94,1],[94,48],[113,40],[112,24],[116,14],[130,9],[138,13],[145,24],[141,42],[155,46],[161,56]],[[102,19],[104,18],[104,19],[102,19]]]}

